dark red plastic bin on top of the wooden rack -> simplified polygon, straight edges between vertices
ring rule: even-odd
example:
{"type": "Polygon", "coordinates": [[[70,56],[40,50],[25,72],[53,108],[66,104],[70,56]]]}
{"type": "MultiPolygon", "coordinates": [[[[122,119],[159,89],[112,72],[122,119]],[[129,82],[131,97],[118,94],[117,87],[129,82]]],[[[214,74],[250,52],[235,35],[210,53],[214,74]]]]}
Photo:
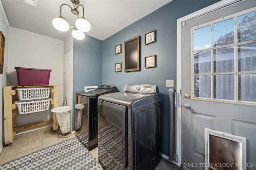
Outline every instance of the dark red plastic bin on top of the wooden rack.
{"type": "Polygon", "coordinates": [[[39,68],[14,67],[17,72],[19,86],[49,85],[52,70],[39,68]]]}

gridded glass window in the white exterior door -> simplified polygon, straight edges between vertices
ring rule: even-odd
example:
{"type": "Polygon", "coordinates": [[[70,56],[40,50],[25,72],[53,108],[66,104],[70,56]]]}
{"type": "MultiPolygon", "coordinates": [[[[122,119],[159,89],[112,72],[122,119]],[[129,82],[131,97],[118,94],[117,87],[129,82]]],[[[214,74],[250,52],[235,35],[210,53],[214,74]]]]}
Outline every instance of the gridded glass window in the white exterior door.
{"type": "Polygon", "coordinates": [[[191,29],[192,99],[256,102],[255,8],[191,29]]]}

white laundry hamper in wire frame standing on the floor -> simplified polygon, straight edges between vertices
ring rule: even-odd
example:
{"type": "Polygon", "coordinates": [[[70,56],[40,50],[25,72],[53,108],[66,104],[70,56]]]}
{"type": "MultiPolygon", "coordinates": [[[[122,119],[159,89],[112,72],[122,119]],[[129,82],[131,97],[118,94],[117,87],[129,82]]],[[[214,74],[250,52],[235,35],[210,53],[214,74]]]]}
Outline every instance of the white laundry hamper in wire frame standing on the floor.
{"type": "Polygon", "coordinates": [[[71,110],[72,109],[69,106],[56,107],[51,110],[53,116],[57,117],[57,119],[54,121],[54,124],[56,127],[58,127],[56,131],[58,133],[58,137],[60,138],[70,137],[71,110]]]}

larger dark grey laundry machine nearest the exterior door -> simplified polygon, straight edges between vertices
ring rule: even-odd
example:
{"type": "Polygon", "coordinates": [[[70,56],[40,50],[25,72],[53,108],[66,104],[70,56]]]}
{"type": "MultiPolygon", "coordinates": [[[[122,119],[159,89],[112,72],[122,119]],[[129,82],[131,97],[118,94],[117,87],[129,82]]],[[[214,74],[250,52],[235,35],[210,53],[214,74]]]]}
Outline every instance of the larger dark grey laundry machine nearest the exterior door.
{"type": "Polygon", "coordinates": [[[161,97],[151,84],[98,97],[98,160],[105,170],[154,170],[160,155],[161,97]]]}

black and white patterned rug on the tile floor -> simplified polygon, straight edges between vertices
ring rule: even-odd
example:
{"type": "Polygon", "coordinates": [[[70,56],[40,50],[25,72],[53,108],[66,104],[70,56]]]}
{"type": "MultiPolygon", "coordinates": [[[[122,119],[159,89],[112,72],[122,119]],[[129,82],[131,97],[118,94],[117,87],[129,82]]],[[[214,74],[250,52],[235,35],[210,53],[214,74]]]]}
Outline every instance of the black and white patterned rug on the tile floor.
{"type": "Polygon", "coordinates": [[[0,165],[2,170],[104,170],[77,137],[0,165]]]}

